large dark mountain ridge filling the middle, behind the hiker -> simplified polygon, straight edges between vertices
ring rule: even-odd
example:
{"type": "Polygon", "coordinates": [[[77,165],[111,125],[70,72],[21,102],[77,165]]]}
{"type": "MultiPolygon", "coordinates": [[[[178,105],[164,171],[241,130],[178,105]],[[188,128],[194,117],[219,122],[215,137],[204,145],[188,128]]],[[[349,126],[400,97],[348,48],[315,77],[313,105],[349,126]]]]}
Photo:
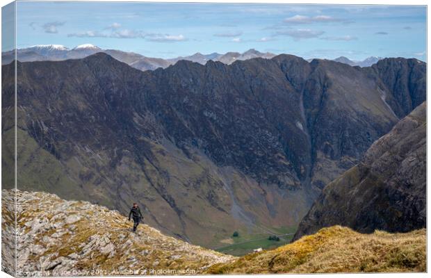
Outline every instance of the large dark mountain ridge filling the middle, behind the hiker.
{"type": "MultiPolygon", "coordinates": [[[[13,72],[3,66],[3,119],[13,72]]],[[[396,124],[385,99],[409,109],[387,72],[288,55],[147,72],[104,53],[17,63],[18,188],[122,213],[138,201],[150,224],[209,247],[234,230],[295,226],[396,124]]],[[[417,88],[406,97],[425,97],[417,88]]],[[[3,180],[13,187],[12,172],[3,180]]]]}

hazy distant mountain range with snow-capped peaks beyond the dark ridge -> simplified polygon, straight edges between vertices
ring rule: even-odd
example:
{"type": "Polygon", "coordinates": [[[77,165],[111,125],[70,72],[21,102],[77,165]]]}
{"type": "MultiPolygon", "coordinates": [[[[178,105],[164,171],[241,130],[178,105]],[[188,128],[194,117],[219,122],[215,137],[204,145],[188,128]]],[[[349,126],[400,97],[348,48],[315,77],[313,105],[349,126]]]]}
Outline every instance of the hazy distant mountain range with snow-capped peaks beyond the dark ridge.
{"type": "MultiPolygon", "coordinates": [[[[190,55],[190,56],[180,56],[177,58],[152,58],[143,56],[141,54],[136,54],[133,52],[120,51],[115,49],[101,49],[92,44],[81,44],[72,49],[68,49],[67,47],[60,44],[40,44],[35,45],[33,47],[27,47],[23,49],[17,50],[17,60],[20,62],[32,62],[32,61],[40,61],[40,60],[67,60],[67,59],[79,59],[86,58],[92,54],[96,54],[98,52],[104,52],[109,54],[113,58],[120,60],[121,62],[127,63],[131,67],[134,67],[138,70],[156,70],[158,67],[166,68],[170,65],[174,65],[179,60],[190,60],[195,63],[200,63],[205,65],[209,60],[219,61],[224,64],[230,65],[234,63],[236,60],[248,60],[252,58],[266,58],[270,59],[276,56],[276,54],[270,52],[260,52],[255,49],[249,49],[242,54],[239,52],[227,52],[226,54],[219,54],[217,52],[211,54],[201,54],[199,52],[190,55]]],[[[6,65],[12,62],[15,59],[14,51],[6,51],[1,54],[1,63],[2,65],[6,65]]],[[[381,57],[368,57],[362,61],[354,61],[350,60],[344,56],[334,59],[336,62],[345,63],[351,66],[359,66],[359,67],[369,67],[378,60],[381,60],[381,57]]],[[[308,59],[308,62],[311,62],[314,59],[308,59]]]]}

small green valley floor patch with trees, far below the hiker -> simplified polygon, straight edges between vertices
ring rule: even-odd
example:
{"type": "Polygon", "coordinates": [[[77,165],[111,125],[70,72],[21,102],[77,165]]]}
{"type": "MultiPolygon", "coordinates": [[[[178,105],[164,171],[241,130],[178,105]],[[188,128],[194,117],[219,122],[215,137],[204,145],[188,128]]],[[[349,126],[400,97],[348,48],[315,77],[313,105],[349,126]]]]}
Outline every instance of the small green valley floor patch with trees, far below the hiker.
{"type": "Polygon", "coordinates": [[[231,254],[234,256],[243,256],[245,254],[252,253],[254,249],[261,247],[263,250],[272,250],[276,247],[286,245],[293,238],[293,233],[295,233],[297,227],[276,227],[272,228],[275,234],[292,234],[288,236],[279,236],[280,240],[268,240],[271,236],[269,233],[261,234],[247,234],[241,233],[238,237],[231,237],[234,240],[233,245],[227,245],[215,249],[215,251],[222,252],[225,254],[231,254]]]}

